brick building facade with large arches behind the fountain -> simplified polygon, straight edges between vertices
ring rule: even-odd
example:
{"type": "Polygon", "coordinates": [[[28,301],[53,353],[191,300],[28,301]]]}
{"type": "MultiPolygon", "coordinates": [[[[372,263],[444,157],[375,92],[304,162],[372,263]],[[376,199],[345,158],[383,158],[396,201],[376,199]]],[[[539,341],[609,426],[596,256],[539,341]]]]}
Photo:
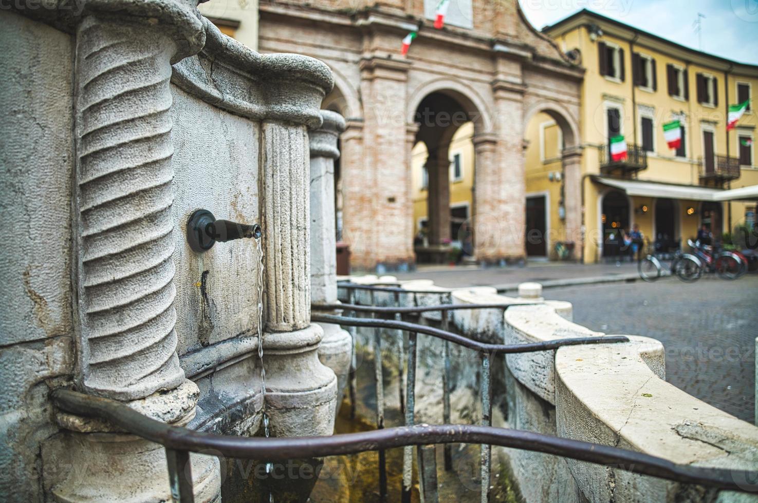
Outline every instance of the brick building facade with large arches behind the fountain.
{"type": "MultiPolygon", "coordinates": [[[[471,208],[475,257],[525,256],[525,125],[546,112],[562,127],[567,194],[578,194],[579,99],[583,70],[528,23],[517,0],[451,0],[443,30],[434,0],[264,2],[259,50],[324,61],[334,91],[322,108],[347,119],[340,138],[342,238],[352,267],[394,270],[415,263],[411,151],[429,152],[433,243],[449,239],[448,148],[474,123],[471,208]],[[400,42],[418,28],[405,57],[400,42]],[[574,187],[575,186],[575,187],[574,187]],[[570,187],[574,187],[573,189],[570,187]]],[[[566,201],[579,233],[581,202],[566,201]]]]}

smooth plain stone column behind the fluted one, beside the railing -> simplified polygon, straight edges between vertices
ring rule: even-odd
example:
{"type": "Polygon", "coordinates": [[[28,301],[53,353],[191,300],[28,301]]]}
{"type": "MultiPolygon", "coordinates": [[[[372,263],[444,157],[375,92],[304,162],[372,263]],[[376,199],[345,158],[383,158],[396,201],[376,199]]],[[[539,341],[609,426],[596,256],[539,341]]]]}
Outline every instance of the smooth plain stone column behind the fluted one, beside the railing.
{"type": "MultiPolygon", "coordinates": [[[[345,130],[340,114],[322,110],[324,125],[309,133],[311,146],[311,295],[313,308],[337,304],[337,237],[334,229],[334,160],[337,138],[345,130]]],[[[339,314],[340,311],[321,311],[339,314]]],[[[352,337],[334,323],[319,323],[324,339],[318,358],[337,375],[335,414],[340,410],[352,358],[352,337]]]]}

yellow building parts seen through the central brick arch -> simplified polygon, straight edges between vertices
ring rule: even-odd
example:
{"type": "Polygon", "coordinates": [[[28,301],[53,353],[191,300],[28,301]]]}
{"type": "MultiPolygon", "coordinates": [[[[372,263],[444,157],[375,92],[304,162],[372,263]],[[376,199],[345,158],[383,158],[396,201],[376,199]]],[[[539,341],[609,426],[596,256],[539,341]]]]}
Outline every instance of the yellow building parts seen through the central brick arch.
{"type": "MultiPolygon", "coordinates": [[[[463,223],[471,218],[474,186],[474,124],[467,122],[453,135],[448,150],[450,193],[450,236],[453,242],[460,240],[463,223]]],[[[426,233],[428,222],[428,181],[426,170],[428,152],[424,142],[418,142],[412,150],[412,201],[413,222],[417,239],[426,233]]]]}

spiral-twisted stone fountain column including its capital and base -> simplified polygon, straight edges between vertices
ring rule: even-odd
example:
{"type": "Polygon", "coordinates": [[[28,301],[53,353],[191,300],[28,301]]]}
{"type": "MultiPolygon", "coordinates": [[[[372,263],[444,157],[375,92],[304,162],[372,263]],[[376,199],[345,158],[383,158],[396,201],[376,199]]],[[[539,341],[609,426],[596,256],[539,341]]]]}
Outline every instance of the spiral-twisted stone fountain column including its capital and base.
{"type": "MultiPolygon", "coordinates": [[[[102,7],[104,4],[100,4],[102,7]]],[[[199,390],[177,358],[171,62],[202,47],[183,5],[154,2],[116,20],[85,11],[76,31],[74,280],[77,387],[184,425],[199,390]],[[165,8],[165,6],[163,6],[165,8]],[[157,9],[157,10],[156,10],[157,9]],[[152,23],[139,23],[145,16],[152,23]],[[133,23],[133,24],[132,24],[133,23]]],[[[165,501],[164,449],[104,421],[58,414],[70,430],[43,445],[45,487],[59,501],[165,501]]],[[[192,457],[196,501],[220,495],[217,458],[192,457]]]]}

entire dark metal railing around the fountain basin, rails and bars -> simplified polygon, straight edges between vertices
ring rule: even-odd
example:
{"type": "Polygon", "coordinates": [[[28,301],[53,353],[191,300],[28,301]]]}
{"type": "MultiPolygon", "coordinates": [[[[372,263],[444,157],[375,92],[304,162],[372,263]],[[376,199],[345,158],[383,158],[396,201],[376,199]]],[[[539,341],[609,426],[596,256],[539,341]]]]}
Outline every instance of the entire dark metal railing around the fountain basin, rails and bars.
{"type": "MultiPolygon", "coordinates": [[[[161,444],[166,449],[167,468],[171,483],[171,495],[174,501],[188,503],[193,501],[192,473],[189,469],[189,452],[207,452],[213,449],[218,455],[228,458],[242,458],[264,461],[285,461],[299,458],[323,458],[325,456],[349,455],[364,451],[379,451],[380,453],[380,496],[382,501],[387,497],[387,476],[384,466],[386,449],[404,447],[403,456],[403,487],[402,500],[410,501],[412,473],[412,446],[418,446],[418,455],[431,461],[431,467],[420,468],[419,476],[424,479],[420,484],[424,492],[430,490],[436,493],[436,487],[428,488],[427,483],[434,483],[436,476],[434,470],[434,456],[429,456],[424,451],[424,446],[442,444],[445,449],[445,469],[451,470],[449,462],[449,445],[453,443],[469,443],[481,445],[481,501],[489,500],[490,489],[490,448],[492,445],[518,448],[528,451],[543,452],[550,455],[558,455],[579,461],[600,465],[613,465],[619,470],[654,476],[664,480],[673,480],[680,483],[697,484],[715,489],[727,489],[732,491],[748,492],[749,487],[739,485],[735,480],[756,480],[758,473],[744,470],[730,470],[725,468],[696,467],[691,465],[675,464],[664,458],[646,455],[641,452],[629,451],[623,448],[610,447],[591,442],[582,442],[573,439],[564,439],[555,436],[544,435],[522,430],[510,430],[491,426],[491,402],[490,395],[490,360],[494,355],[506,355],[531,351],[550,351],[564,345],[577,344],[608,344],[614,342],[628,342],[625,336],[590,337],[577,339],[560,339],[549,342],[536,342],[522,345],[487,344],[468,339],[446,329],[449,322],[449,311],[459,309],[506,309],[514,305],[525,305],[526,302],[501,303],[487,305],[453,305],[452,296],[449,292],[439,292],[442,305],[400,307],[400,295],[434,295],[437,292],[409,291],[399,288],[387,288],[377,286],[364,286],[355,284],[340,284],[340,288],[349,293],[346,304],[318,305],[314,309],[329,310],[340,309],[348,311],[352,317],[332,316],[326,314],[314,314],[312,320],[322,323],[338,323],[342,326],[367,326],[374,329],[374,356],[376,361],[376,382],[374,383],[377,393],[377,430],[362,433],[348,433],[334,436],[295,437],[295,438],[260,438],[226,436],[212,433],[201,433],[181,426],[170,426],[160,421],[139,414],[133,408],[124,405],[120,401],[101,398],[68,389],[56,389],[52,392],[52,400],[58,408],[72,414],[82,414],[89,417],[99,417],[110,421],[115,426],[133,433],[136,436],[149,439],[161,444]],[[371,305],[353,304],[356,290],[368,290],[371,305]],[[381,292],[384,295],[391,294],[394,297],[395,307],[378,307],[375,304],[375,294],[381,292]],[[442,329],[428,325],[420,325],[399,320],[402,314],[418,314],[421,312],[440,311],[442,329]],[[358,313],[365,313],[371,317],[356,317],[358,313]],[[395,320],[374,319],[377,314],[395,317],[395,320]],[[381,396],[382,388],[382,362],[381,362],[381,329],[387,333],[393,330],[402,330],[409,334],[409,346],[407,357],[407,383],[400,403],[404,405],[405,426],[384,428],[384,406],[381,396]],[[389,330],[387,330],[389,329],[389,330]],[[443,422],[441,425],[415,424],[415,370],[416,370],[416,341],[419,335],[432,336],[441,339],[443,345],[443,358],[445,361],[443,372],[443,422]],[[450,424],[449,419],[449,343],[460,345],[474,351],[478,355],[480,366],[481,404],[482,418],[480,425],[450,424]],[[427,474],[428,468],[431,473],[427,474]],[[428,475],[428,478],[427,478],[428,475]]],[[[401,366],[402,368],[402,366],[401,366]]],[[[351,380],[355,379],[355,370],[351,369],[351,380]]],[[[400,379],[402,383],[402,377],[400,379]]],[[[352,387],[352,386],[351,386],[352,387]]],[[[356,398],[350,394],[351,401],[356,398]]],[[[420,464],[418,465],[421,466],[420,464]]],[[[434,498],[429,498],[430,501],[434,498]]],[[[436,501],[436,500],[435,500],[436,501]]]]}

